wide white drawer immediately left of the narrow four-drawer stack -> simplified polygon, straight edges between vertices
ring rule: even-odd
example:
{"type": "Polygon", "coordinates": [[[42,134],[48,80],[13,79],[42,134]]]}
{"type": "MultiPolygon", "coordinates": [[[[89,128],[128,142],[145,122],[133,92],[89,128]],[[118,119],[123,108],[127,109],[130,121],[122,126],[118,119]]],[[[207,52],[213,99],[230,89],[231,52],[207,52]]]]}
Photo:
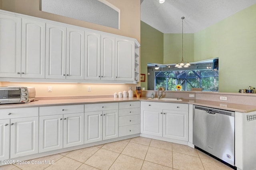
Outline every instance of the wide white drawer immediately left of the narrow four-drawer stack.
{"type": "Polygon", "coordinates": [[[96,103],[84,105],[84,112],[109,111],[118,109],[118,103],[96,103]]]}

